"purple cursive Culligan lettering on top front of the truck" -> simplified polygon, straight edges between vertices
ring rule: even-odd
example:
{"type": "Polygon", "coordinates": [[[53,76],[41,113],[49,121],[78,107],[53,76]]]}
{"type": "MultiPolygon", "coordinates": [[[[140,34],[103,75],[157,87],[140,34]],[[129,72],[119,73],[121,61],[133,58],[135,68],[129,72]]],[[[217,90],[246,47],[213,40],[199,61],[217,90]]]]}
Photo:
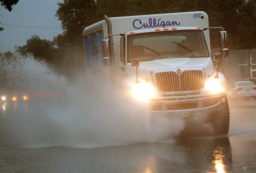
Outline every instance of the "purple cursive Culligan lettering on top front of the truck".
{"type": "Polygon", "coordinates": [[[142,23],[140,19],[135,19],[133,21],[133,27],[136,29],[142,29],[142,28],[154,28],[154,27],[170,27],[170,26],[179,26],[180,22],[178,21],[164,21],[161,20],[161,18],[156,19],[156,18],[149,18],[148,22],[142,23]]]}

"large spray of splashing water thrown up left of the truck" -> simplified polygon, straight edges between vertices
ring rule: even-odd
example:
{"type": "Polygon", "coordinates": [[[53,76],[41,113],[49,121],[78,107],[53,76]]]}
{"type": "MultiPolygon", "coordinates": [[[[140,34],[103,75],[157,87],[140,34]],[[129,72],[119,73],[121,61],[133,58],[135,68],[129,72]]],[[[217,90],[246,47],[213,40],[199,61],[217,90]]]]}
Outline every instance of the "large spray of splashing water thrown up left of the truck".
{"type": "Polygon", "coordinates": [[[31,55],[1,57],[0,61],[1,74],[5,74],[0,84],[4,88],[64,93],[1,112],[0,131],[4,137],[0,141],[4,144],[32,148],[114,146],[156,142],[183,128],[181,120],[164,118],[152,126],[146,104],[102,83],[99,77],[81,78],[70,84],[31,55]]]}

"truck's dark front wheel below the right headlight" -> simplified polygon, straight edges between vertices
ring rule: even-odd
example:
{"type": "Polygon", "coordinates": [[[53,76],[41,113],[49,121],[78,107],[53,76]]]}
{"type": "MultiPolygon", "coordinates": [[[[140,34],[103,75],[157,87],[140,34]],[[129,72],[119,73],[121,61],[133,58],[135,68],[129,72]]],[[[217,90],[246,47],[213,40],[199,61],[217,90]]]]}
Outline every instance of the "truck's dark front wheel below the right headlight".
{"type": "Polygon", "coordinates": [[[212,114],[212,128],[216,135],[227,135],[229,130],[229,108],[212,114]]]}

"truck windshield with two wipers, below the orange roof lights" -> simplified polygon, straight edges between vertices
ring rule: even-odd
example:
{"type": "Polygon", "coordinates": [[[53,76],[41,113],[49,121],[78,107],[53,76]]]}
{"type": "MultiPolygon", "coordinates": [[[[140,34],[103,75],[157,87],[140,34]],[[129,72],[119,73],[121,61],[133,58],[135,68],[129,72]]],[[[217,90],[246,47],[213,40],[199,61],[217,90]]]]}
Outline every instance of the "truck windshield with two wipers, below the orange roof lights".
{"type": "Polygon", "coordinates": [[[128,37],[128,59],[151,61],[162,58],[209,57],[202,30],[141,33],[128,37]]]}

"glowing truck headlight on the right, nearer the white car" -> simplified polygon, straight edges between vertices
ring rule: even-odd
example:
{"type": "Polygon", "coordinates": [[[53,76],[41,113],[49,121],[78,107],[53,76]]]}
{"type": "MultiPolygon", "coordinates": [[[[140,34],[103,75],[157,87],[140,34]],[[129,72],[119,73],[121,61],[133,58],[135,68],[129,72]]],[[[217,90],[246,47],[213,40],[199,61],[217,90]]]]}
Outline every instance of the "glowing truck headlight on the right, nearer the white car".
{"type": "Polygon", "coordinates": [[[225,81],[220,81],[219,78],[212,78],[205,81],[204,86],[211,92],[224,92],[225,81]]]}

